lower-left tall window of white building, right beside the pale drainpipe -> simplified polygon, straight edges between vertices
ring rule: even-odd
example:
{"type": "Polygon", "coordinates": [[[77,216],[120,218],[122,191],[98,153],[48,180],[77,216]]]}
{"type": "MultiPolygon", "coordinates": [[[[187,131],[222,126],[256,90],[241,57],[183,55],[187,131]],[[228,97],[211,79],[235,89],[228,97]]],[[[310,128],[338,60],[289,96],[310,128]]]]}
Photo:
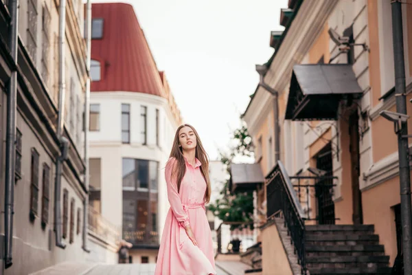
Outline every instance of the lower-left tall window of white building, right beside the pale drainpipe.
{"type": "Polygon", "coordinates": [[[90,190],[89,205],[97,212],[101,212],[100,190],[101,190],[101,159],[89,159],[90,166],[90,190]]]}

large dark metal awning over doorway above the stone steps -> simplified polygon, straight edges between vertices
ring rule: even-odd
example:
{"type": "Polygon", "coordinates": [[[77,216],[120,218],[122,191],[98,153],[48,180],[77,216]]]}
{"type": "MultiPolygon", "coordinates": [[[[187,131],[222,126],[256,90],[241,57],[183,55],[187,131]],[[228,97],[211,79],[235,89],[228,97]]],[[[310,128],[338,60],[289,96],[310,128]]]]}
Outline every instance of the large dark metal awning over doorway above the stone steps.
{"type": "Polygon", "coordinates": [[[336,120],[339,101],[363,94],[350,64],[293,66],[286,120],[336,120]]]}

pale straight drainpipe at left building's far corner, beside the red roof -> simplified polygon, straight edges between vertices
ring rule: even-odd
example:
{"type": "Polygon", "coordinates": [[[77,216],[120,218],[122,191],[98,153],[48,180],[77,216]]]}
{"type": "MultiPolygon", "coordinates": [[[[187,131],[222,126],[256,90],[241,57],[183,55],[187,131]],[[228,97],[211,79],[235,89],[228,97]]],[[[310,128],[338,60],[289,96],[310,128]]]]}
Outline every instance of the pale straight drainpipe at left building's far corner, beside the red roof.
{"type": "MultiPolygon", "coordinates": [[[[86,4],[86,67],[87,80],[86,92],[84,93],[84,186],[89,191],[89,107],[90,107],[90,59],[91,59],[91,0],[86,4]]],[[[86,194],[83,206],[83,250],[89,252],[87,248],[87,236],[89,225],[89,194],[86,194]]]]}

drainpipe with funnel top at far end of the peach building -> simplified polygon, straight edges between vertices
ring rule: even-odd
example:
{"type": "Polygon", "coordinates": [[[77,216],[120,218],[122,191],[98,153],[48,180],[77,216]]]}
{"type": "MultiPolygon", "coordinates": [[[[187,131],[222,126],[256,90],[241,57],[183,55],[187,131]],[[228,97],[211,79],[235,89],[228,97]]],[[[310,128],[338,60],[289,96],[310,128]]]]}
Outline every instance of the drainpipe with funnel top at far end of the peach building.
{"type": "Polygon", "coordinates": [[[280,129],[279,129],[279,93],[273,89],[271,86],[267,85],[264,82],[264,75],[268,71],[266,65],[256,65],[256,72],[260,76],[259,86],[271,93],[273,96],[273,120],[274,120],[274,129],[273,133],[275,134],[275,165],[280,159],[280,129]]]}

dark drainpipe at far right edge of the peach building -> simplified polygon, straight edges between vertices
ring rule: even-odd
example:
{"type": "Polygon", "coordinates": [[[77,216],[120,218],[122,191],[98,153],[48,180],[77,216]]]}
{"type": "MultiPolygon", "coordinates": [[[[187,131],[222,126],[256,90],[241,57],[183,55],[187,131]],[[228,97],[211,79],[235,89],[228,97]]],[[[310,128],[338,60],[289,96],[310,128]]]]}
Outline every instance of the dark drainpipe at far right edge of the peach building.
{"type": "MultiPolygon", "coordinates": [[[[404,43],[402,30],[402,5],[399,0],[391,1],[393,61],[395,63],[396,112],[407,114],[404,43]]],[[[402,219],[402,248],[404,274],[412,274],[412,217],[411,217],[411,175],[409,167],[408,124],[402,121],[398,131],[400,205],[402,219]]]]}

